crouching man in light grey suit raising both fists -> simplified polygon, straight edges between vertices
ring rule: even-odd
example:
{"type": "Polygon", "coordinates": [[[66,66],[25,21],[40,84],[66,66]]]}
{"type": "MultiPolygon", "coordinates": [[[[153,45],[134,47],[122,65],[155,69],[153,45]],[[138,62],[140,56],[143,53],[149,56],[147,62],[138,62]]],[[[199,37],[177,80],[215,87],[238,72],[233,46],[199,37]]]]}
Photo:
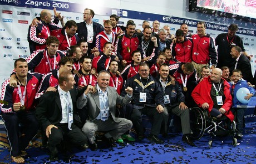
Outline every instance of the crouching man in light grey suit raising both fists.
{"type": "Polygon", "coordinates": [[[125,89],[127,95],[122,98],[117,94],[115,88],[109,86],[110,73],[108,71],[100,71],[97,78],[98,84],[95,87],[96,92],[92,93],[93,86],[88,85],[83,93],[83,97],[77,100],[77,107],[82,108],[87,105],[88,119],[82,127],[82,131],[88,137],[89,146],[92,151],[97,150],[95,141],[96,131],[109,131],[105,136],[109,140],[109,145],[116,147],[115,140],[119,139],[122,134],[131,129],[132,122],[130,120],[115,117],[116,104],[122,106],[128,104],[132,100],[132,88],[125,89]],[[82,103],[83,102],[83,103],[82,103]]]}

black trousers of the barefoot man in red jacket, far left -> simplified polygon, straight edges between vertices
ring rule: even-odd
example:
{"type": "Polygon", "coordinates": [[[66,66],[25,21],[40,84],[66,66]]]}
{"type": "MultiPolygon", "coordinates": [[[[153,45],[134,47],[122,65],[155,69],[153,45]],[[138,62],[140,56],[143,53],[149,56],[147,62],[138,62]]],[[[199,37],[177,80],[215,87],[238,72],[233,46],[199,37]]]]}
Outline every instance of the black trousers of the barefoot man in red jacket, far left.
{"type": "Polygon", "coordinates": [[[21,150],[25,150],[29,141],[35,137],[39,124],[34,111],[22,111],[14,113],[2,113],[4,126],[7,130],[11,155],[16,157],[21,155],[21,150]],[[22,129],[22,135],[19,131],[22,129]]]}

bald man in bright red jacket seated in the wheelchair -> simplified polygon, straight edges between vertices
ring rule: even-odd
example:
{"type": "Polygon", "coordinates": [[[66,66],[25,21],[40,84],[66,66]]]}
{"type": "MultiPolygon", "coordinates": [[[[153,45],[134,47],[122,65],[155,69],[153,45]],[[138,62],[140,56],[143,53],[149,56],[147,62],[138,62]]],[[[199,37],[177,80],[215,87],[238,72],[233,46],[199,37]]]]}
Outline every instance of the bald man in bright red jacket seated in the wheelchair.
{"type": "Polygon", "coordinates": [[[230,121],[233,121],[234,115],[230,110],[230,107],[232,107],[230,85],[221,76],[221,69],[213,69],[210,76],[195,87],[192,97],[195,103],[199,107],[208,110],[212,117],[220,118],[225,115],[230,121]]]}

